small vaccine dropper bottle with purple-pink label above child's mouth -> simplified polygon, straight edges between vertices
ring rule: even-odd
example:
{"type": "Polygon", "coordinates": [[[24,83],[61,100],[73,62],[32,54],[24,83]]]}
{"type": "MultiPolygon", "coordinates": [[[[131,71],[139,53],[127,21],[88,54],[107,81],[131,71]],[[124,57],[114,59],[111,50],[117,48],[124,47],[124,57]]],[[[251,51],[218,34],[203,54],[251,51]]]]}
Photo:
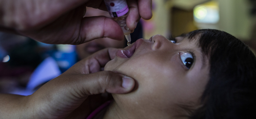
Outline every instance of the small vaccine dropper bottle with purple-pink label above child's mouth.
{"type": "Polygon", "coordinates": [[[130,30],[126,25],[126,17],[129,14],[129,8],[126,0],[104,0],[111,18],[122,28],[124,36],[127,39],[127,45],[130,45],[130,30]]]}

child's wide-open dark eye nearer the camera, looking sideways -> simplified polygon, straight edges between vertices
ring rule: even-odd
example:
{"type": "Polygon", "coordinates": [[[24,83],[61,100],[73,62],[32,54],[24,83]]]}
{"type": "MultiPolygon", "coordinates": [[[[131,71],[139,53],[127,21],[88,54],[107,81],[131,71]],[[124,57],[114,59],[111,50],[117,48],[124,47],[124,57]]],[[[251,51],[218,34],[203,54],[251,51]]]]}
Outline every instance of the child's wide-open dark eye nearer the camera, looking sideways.
{"type": "Polygon", "coordinates": [[[181,61],[183,64],[190,69],[194,62],[194,58],[190,53],[180,53],[181,61]]]}

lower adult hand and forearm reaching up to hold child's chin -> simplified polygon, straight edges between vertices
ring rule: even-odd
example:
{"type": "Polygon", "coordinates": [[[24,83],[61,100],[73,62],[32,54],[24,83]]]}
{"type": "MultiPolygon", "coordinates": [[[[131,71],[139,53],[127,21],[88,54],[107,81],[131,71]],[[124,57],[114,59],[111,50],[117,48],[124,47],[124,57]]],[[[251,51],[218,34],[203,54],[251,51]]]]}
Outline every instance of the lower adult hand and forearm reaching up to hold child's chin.
{"type": "Polygon", "coordinates": [[[103,49],[79,61],[30,96],[4,98],[5,100],[1,100],[1,103],[7,106],[3,107],[1,104],[0,116],[12,119],[87,117],[95,108],[90,101],[86,100],[88,96],[105,92],[127,93],[134,87],[132,78],[112,71],[101,71],[101,67],[114,58],[116,50],[103,49]]]}

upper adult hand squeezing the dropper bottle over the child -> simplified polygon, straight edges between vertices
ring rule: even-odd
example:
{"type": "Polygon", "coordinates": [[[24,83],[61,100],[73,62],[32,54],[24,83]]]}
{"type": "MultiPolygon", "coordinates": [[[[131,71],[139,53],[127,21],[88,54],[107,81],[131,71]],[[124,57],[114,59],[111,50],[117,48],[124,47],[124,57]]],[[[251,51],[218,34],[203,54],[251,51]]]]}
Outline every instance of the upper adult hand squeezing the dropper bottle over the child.
{"type": "MultiPolygon", "coordinates": [[[[49,44],[82,44],[102,37],[122,40],[118,24],[104,16],[83,17],[86,7],[106,10],[103,0],[0,0],[0,30],[49,44]]],[[[127,26],[152,17],[151,0],[128,0],[127,26]]]]}

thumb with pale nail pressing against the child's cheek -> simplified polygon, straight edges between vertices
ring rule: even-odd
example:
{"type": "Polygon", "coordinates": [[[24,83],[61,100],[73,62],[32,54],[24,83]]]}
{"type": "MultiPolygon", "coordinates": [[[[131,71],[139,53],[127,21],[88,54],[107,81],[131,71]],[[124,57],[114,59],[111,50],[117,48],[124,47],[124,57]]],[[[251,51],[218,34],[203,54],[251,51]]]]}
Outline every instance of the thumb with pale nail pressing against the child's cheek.
{"type": "Polygon", "coordinates": [[[128,93],[134,88],[134,79],[112,71],[100,71],[85,74],[86,81],[82,83],[82,94],[92,95],[99,93],[128,93]]]}

